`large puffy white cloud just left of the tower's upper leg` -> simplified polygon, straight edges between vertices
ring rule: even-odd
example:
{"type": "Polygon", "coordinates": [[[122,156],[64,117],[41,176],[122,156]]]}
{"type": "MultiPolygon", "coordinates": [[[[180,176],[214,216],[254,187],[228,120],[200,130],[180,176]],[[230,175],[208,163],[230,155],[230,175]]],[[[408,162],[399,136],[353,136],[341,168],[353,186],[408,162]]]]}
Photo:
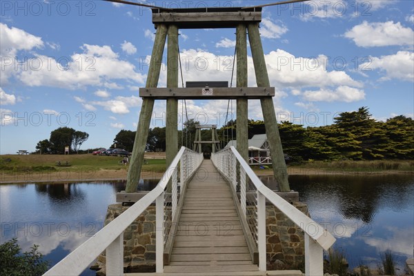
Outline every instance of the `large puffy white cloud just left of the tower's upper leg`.
{"type": "Polygon", "coordinates": [[[111,80],[126,79],[144,83],[144,75],[135,71],[135,66],[129,61],[119,59],[110,46],[84,44],[83,52],[70,57],[70,66],[63,66],[50,57],[37,56],[44,60],[39,70],[21,71],[20,79],[27,86],[52,86],[67,89],[77,89],[85,86],[106,86],[111,80]],[[48,63],[46,63],[48,62],[48,63]]]}

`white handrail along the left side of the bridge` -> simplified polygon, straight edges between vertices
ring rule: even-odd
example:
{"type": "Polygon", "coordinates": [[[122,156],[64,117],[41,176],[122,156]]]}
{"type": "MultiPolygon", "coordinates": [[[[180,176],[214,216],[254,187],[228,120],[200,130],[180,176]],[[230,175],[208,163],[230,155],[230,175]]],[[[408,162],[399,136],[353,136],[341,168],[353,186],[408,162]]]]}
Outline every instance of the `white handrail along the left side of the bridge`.
{"type": "MultiPolygon", "coordinates": [[[[65,258],[63,258],[59,263],[57,263],[55,266],[50,268],[45,274],[46,276],[58,276],[58,275],[64,275],[64,276],[71,276],[71,275],[79,275],[88,268],[88,266],[100,255],[103,250],[106,250],[107,248],[114,248],[115,250],[119,250],[119,253],[121,254],[119,257],[121,257],[121,264],[122,268],[124,266],[124,258],[123,258],[123,252],[124,248],[122,246],[122,237],[124,230],[132,224],[135,219],[141,213],[148,208],[154,202],[157,200],[157,202],[160,202],[159,205],[164,206],[162,203],[164,200],[164,190],[168,184],[168,181],[171,179],[172,175],[174,175],[171,172],[174,172],[177,170],[177,166],[179,164],[179,161],[184,155],[184,152],[188,150],[185,147],[181,147],[177,155],[175,156],[174,160],[164,173],[163,177],[159,181],[158,185],[150,191],[147,195],[145,195],[143,198],[141,198],[139,201],[137,201],[135,204],[130,206],[127,210],[124,211],[121,215],[119,215],[117,218],[112,220],[108,225],[103,227],[101,230],[99,230],[98,233],[96,233],[93,237],[90,237],[86,242],[81,244],[78,248],[76,248],[72,253],[67,255],[65,258]],[[121,246],[119,246],[121,244],[121,246]]],[[[201,162],[200,162],[201,164],[201,162]]],[[[199,164],[198,164],[199,166],[199,164]]],[[[197,168],[198,168],[197,166],[197,168]]],[[[194,170],[197,168],[193,168],[194,170]]],[[[159,210],[160,206],[157,206],[157,210],[159,210]]],[[[159,213],[159,212],[157,212],[159,213]]],[[[157,214],[159,215],[159,214],[157,214]]],[[[162,215],[164,217],[164,215],[162,215]]],[[[159,221],[157,221],[159,222],[159,221]]],[[[158,224],[157,224],[158,226],[158,224]]],[[[157,235],[158,237],[159,235],[157,235]]],[[[161,241],[164,237],[161,237],[161,241]]],[[[159,242],[157,242],[159,245],[159,242]]],[[[159,256],[159,250],[163,249],[161,246],[157,247],[157,256],[159,256]]],[[[108,250],[107,250],[108,251],[108,250]]],[[[111,251],[110,255],[116,255],[111,251]]],[[[162,256],[162,255],[161,255],[162,256]]],[[[107,275],[110,275],[108,273],[109,271],[117,271],[120,268],[117,267],[115,269],[108,267],[108,262],[112,262],[111,264],[117,263],[119,266],[119,258],[117,260],[111,261],[108,259],[107,256],[107,275]],[[108,269],[109,268],[109,269],[108,269]]],[[[162,264],[162,257],[157,258],[157,267],[160,267],[160,264],[162,264]],[[161,263],[160,263],[161,262],[161,263]]],[[[162,266],[161,266],[162,267],[162,266]]],[[[160,272],[160,271],[157,271],[160,272]]],[[[114,275],[118,275],[119,272],[116,272],[114,275]]]]}

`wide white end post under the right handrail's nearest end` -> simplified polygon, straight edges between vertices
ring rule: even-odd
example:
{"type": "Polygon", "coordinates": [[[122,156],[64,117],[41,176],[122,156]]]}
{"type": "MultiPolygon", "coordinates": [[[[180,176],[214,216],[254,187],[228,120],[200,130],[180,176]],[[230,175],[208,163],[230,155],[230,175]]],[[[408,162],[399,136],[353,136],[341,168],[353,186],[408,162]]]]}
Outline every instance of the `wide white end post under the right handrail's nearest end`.
{"type": "Polygon", "coordinates": [[[305,233],[305,275],[324,275],[324,248],[305,233]]]}

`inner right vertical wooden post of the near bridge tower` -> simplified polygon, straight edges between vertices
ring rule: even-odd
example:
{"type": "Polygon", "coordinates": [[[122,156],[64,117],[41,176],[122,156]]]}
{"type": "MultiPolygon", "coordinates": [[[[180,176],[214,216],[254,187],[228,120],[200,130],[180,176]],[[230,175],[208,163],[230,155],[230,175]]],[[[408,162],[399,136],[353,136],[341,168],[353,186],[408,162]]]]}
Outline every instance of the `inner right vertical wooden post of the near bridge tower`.
{"type": "MultiPolygon", "coordinates": [[[[247,36],[246,26],[240,24],[236,32],[237,87],[247,87],[247,36]]],[[[237,99],[237,151],[248,161],[248,101],[237,99]]]]}

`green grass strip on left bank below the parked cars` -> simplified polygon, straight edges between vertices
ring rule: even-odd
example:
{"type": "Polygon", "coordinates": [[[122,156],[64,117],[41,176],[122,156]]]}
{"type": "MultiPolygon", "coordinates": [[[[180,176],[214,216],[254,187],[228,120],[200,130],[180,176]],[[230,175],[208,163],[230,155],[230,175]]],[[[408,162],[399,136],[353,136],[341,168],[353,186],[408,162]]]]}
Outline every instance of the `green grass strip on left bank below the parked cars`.
{"type": "MultiPolygon", "coordinates": [[[[0,169],[3,172],[27,172],[50,170],[79,170],[80,168],[94,170],[122,170],[120,162],[124,157],[99,156],[99,155],[1,155],[0,169]],[[56,166],[56,161],[69,161],[70,166],[56,166]]],[[[143,171],[164,172],[165,159],[148,159],[143,171]]]]}

